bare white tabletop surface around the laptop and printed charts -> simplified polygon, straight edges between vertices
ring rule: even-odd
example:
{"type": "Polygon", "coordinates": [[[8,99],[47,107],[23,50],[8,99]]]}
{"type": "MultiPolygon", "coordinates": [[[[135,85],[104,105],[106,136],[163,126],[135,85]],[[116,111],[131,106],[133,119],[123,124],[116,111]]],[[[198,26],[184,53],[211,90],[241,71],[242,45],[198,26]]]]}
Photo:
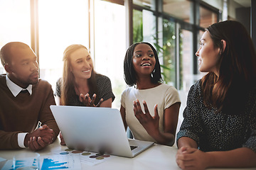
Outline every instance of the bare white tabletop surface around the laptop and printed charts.
{"type": "MultiPolygon", "coordinates": [[[[54,151],[65,149],[60,145],[60,140],[56,140],[53,144],[49,145],[45,149],[38,151],[42,156],[48,155],[54,151]]],[[[4,159],[12,159],[15,154],[18,152],[31,152],[29,149],[18,149],[18,150],[0,150],[0,157],[4,159]]],[[[97,170],[113,170],[113,169],[122,169],[122,170],[178,170],[176,164],[176,147],[167,147],[165,145],[154,145],[141,154],[137,155],[134,158],[125,158],[125,157],[112,157],[107,159],[105,162],[90,166],[87,164],[81,164],[82,169],[97,169],[97,170]]],[[[0,162],[0,169],[4,166],[5,162],[0,162]]],[[[255,168],[252,168],[255,170],[255,168]]],[[[244,170],[252,170],[244,169],[244,170]]],[[[228,169],[216,169],[216,170],[228,170],[228,169]]],[[[235,169],[242,170],[242,169],[235,169]]]]}

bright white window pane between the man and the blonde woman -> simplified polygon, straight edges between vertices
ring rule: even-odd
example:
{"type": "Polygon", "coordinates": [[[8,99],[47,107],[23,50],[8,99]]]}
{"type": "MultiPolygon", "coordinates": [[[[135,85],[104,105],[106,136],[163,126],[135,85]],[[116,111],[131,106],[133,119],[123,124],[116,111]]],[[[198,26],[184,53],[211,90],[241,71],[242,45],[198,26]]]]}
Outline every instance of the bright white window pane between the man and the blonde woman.
{"type": "Polygon", "coordinates": [[[55,91],[63,74],[63,52],[72,44],[89,48],[87,1],[39,0],[40,77],[55,91]],[[50,4],[50,5],[49,5],[50,4]]]}

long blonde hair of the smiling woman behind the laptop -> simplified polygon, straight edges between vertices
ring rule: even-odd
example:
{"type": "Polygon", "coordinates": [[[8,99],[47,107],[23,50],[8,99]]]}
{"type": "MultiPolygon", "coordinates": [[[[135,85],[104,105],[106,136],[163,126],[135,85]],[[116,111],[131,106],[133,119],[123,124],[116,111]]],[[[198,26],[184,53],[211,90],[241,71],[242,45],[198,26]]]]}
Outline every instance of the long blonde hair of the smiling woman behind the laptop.
{"type": "MultiPolygon", "coordinates": [[[[61,96],[60,101],[62,105],[70,105],[68,103],[68,98],[70,96],[74,96],[75,94],[75,77],[72,72],[70,72],[70,55],[80,48],[87,48],[84,45],[70,45],[66,47],[65,51],[63,52],[63,77],[61,79],[61,96]]],[[[97,94],[97,85],[96,85],[96,78],[95,78],[95,71],[92,68],[92,74],[90,79],[88,79],[88,86],[90,89],[89,94],[97,94]]],[[[91,95],[90,95],[91,96],[91,95]]],[[[96,102],[99,99],[96,98],[96,102]]]]}

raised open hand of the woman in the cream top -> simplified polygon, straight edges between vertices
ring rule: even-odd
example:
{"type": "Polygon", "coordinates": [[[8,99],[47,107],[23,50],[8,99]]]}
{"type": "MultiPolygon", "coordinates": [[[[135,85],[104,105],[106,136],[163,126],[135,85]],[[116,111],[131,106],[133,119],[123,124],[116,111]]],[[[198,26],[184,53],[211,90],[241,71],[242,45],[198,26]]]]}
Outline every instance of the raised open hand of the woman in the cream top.
{"type": "Polygon", "coordinates": [[[149,135],[159,130],[159,113],[157,111],[157,104],[154,106],[154,117],[149,113],[146,101],[142,101],[145,113],[143,113],[139,100],[134,101],[134,115],[139,120],[139,123],[145,128],[149,135]]]}

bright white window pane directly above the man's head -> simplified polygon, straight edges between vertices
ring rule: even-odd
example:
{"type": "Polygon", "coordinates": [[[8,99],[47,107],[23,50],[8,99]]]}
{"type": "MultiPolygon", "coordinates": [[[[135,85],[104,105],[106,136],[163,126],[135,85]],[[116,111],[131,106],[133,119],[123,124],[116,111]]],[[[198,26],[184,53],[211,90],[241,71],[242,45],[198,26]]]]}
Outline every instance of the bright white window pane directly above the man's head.
{"type": "MultiPolygon", "coordinates": [[[[0,1],[0,49],[12,41],[24,42],[31,46],[30,1],[0,1]]],[[[0,64],[0,74],[5,73],[0,64]]]]}

